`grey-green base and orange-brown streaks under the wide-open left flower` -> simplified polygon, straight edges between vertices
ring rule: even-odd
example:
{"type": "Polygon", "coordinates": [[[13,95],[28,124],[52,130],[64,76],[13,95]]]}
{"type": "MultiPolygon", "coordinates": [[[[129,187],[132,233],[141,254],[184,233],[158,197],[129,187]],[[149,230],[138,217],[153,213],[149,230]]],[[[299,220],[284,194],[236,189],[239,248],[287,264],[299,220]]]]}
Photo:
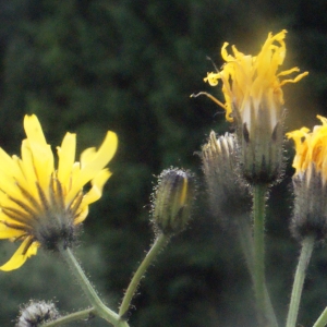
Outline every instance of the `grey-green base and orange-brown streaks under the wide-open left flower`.
{"type": "Polygon", "coordinates": [[[58,250],[59,245],[70,247],[76,240],[77,227],[74,220],[81,211],[82,190],[66,206],[62,185],[56,175],[51,177],[48,192],[36,182],[38,198],[32,196],[21,185],[17,186],[28,204],[20,198],[8,196],[12,206],[2,207],[2,211],[9,220],[1,222],[11,229],[22,231],[15,241],[29,237],[31,241],[26,244],[24,253],[33,242],[38,242],[44,249],[50,251],[58,250]]]}

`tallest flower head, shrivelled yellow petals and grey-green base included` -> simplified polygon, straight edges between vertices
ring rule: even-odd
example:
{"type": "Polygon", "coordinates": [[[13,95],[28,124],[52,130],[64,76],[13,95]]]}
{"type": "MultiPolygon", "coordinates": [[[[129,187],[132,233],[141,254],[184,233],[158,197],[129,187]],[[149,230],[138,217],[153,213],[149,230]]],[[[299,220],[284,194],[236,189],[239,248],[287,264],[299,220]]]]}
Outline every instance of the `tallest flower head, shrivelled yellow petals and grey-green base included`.
{"type": "Polygon", "coordinates": [[[278,72],[286,57],[287,31],[268,37],[257,56],[240,52],[232,46],[228,53],[228,43],[221,48],[226,61],[221,71],[205,77],[211,86],[221,81],[225,102],[207,93],[214,101],[226,110],[226,119],[234,122],[239,143],[239,158],[242,173],[252,184],[276,182],[283,171],[283,93],[287,83],[296,83],[307,75],[298,74],[293,78],[284,76],[299,72],[292,68],[278,72]]]}

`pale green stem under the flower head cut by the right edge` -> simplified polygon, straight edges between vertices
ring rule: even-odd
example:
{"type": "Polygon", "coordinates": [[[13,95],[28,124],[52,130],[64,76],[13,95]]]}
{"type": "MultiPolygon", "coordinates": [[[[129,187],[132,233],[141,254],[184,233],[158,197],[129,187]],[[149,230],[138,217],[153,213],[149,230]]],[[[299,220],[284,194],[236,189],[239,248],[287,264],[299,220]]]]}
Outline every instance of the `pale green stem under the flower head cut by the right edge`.
{"type": "Polygon", "coordinates": [[[314,244],[315,244],[315,239],[313,237],[306,237],[302,241],[302,249],[301,249],[299,264],[294,277],[289,314],[287,318],[287,325],[286,325],[287,327],[294,327],[296,324],[304,278],[314,249],[314,244]]]}

